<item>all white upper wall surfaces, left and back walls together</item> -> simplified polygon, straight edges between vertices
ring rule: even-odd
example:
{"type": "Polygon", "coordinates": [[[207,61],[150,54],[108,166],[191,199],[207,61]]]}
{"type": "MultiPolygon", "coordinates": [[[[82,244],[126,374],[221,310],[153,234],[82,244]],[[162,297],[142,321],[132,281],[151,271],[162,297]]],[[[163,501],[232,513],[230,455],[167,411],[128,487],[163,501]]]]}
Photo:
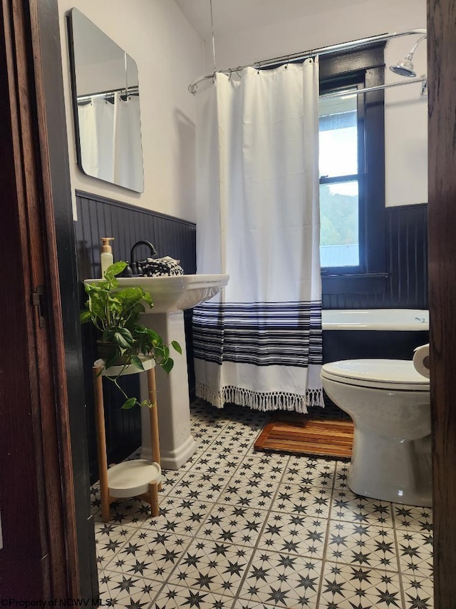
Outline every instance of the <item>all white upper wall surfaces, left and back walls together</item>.
{"type": "MultiPolygon", "coordinates": [[[[192,0],[188,0],[192,1],[192,0]]],[[[214,20],[217,23],[217,1],[214,20]]],[[[334,5],[337,5],[336,0],[334,5]]],[[[187,86],[212,72],[212,41],[205,48],[174,0],[58,0],[72,190],[195,220],[195,98],[187,86]],[[133,193],[84,175],[76,165],[66,33],[66,12],[78,8],[138,63],[144,193],[133,193]],[[205,66],[204,66],[205,63],[205,66]]],[[[217,68],[391,31],[424,27],[425,0],[370,0],[311,16],[284,14],[273,26],[242,24],[217,36],[217,68]]],[[[416,36],[390,41],[387,65],[405,56],[416,36]]],[[[425,42],[415,53],[426,71],[425,42]]],[[[389,70],[387,82],[401,80],[389,70]]],[[[427,201],[427,99],[418,84],[385,91],[386,205],[427,201]]]]}

